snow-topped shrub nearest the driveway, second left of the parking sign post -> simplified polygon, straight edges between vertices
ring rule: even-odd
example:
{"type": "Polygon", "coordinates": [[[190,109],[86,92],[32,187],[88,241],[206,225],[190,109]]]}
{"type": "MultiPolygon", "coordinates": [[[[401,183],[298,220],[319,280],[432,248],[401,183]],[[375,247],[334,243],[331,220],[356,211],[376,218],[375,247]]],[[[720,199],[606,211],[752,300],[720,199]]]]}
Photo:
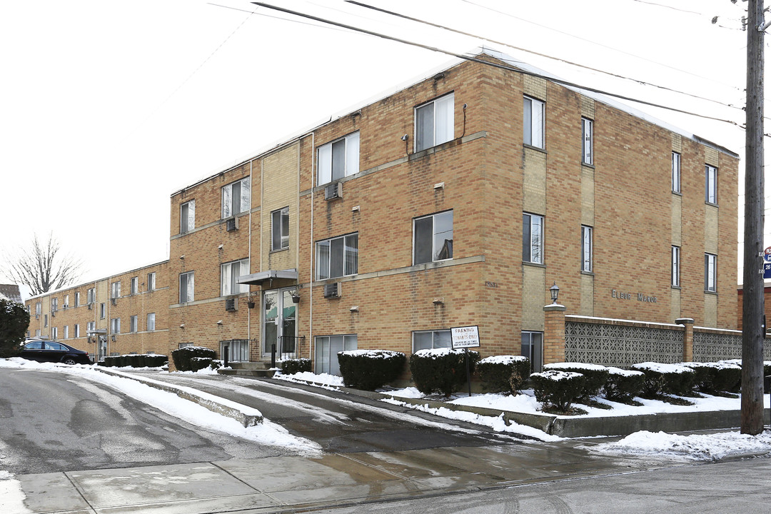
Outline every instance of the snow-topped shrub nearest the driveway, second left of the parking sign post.
{"type": "Polygon", "coordinates": [[[348,388],[375,391],[399,378],[407,361],[405,354],[389,350],[338,352],[340,374],[348,388]]]}

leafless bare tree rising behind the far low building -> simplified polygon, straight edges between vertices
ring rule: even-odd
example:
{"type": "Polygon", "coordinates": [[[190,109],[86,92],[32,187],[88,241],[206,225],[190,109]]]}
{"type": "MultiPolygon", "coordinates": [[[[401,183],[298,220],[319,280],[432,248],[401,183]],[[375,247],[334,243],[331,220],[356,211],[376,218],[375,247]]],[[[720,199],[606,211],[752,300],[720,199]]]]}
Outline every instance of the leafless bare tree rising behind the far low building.
{"type": "Polygon", "coordinates": [[[32,237],[32,247],[6,257],[3,273],[16,284],[24,284],[32,294],[47,293],[73,284],[82,274],[82,260],[72,254],[63,255],[59,240],[49,233],[48,242],[41,244],[38,235],[32,237]]]}

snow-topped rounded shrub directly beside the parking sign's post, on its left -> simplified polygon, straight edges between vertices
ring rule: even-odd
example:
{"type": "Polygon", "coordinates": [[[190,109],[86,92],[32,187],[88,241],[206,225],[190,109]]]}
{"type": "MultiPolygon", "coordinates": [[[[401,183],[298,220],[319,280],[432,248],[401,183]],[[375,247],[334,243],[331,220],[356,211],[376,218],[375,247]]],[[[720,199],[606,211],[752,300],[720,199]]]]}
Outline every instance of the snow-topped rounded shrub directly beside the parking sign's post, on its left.
{"type": "MultiPolygon", "coordinates": [[[[419,350],[409,358],[409,371],[418,391],[429,395],[435,391],[453,394],[466,382],[466,351],[453,348],[419,350]]],[[[469,372],[473,373],[480,354],[468,351],[469,372]]]]}

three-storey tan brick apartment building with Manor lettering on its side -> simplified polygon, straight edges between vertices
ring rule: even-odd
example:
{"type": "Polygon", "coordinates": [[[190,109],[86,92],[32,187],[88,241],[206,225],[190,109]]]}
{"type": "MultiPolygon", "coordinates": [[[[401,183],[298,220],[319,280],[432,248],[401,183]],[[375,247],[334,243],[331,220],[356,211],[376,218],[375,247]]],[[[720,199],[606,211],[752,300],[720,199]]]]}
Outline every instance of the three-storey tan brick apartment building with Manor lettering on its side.
{"type": "Polygon", "coordinates": [[[173,193],[167,351],[336,372],[477,325],[540,365],[555,283],[567,314],[736,328],[736,154],[522,70],[456,63],[173,193]]]}

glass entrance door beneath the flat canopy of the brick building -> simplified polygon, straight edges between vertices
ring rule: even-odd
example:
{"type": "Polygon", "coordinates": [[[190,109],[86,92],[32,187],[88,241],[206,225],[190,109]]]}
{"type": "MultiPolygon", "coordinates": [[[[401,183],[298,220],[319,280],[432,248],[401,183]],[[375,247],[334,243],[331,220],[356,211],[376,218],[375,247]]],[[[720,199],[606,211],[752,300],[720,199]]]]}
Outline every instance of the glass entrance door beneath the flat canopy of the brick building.
{"type": "Polygon", "coordinates": [[[297,306],[291,299],[294,287],[265,291],[263,296],[262,357],[271,358],[276,345],[276,358],[295,357],[297,336],[297,306]],[[291,354],[291,355],[288,355],[291,354]]]}

